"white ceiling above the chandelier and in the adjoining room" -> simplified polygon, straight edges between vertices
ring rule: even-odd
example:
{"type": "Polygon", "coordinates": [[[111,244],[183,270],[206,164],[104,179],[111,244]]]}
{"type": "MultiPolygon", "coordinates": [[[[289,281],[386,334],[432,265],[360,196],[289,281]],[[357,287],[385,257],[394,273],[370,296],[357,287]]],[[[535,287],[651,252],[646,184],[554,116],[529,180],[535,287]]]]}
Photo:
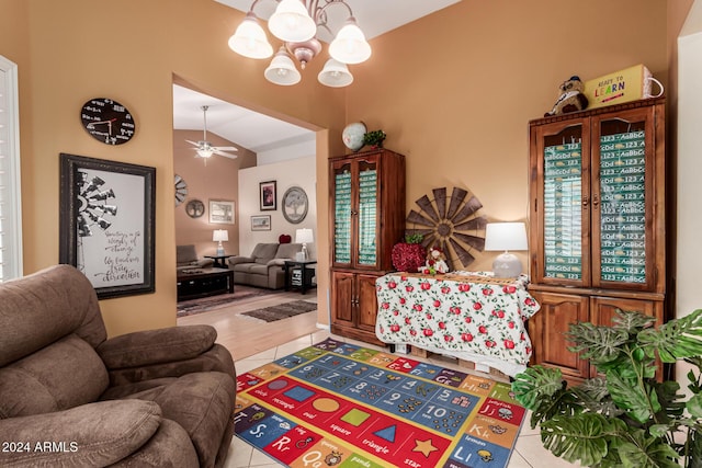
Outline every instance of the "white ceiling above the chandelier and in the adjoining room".
{"type": "MultiPolygon", "coordinates": [[[[245,13],[249,11],[252,3],[252,0],[215,1],[245,13]]],[[[335,0],[319,0],[320,4],[328,1],[335,0]]],[[[461,0],[346,1],[351,7],[366,38],[371,39],[461,0]]],[[[261,0],[256,7],[254,13],[262,20],[267,20],[272,14],[275,4],[274,0],[261,0]]],[[[342,22],[346,19],[346,8],[331,5],[327,11],[330,26],[336,27],[335,31],[338,30],[340,26],[335,23],[337,21],[336,14],[342,16],[339,20],[342,22]]],[[[324,39],[324,37],[320,38],[324,39]]],[[[261,77],[261,79],[264,78],[261,77]]],[[[294,88],[291,89],[291,92],[294,92],[294,88]]],[[[210,106],[207,110],[207,132],[254,152],[309,141],[315,137],[313,132],[305,128],[179,85],[173,85],[173,128],[177,130],[202,130],[204,119],[201,107],[203,105],[210,106]]]]}

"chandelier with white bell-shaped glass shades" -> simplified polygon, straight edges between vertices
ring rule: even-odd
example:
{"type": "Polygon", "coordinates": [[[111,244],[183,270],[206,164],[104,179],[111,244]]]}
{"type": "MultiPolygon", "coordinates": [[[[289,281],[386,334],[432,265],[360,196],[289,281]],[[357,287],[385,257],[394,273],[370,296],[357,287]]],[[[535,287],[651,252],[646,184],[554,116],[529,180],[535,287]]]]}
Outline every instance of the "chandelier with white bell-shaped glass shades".
{"type": "MultiPolygon", "coordinates": [[[[273,55],[273,47],[268,42],[263,27],[253,9],[261,0],[253,0],[246,18],[229,37],[229,48],[249,58],[263,59],[273,55]]],[[[275,12],[268,21],[268,28],[283,41],[271,65],[263,76],[272,83],[292,85],[299,82],[302,75],[297,71],[292,57],[305,66],[321,52],[321,43],[317,39],[319,31],[333,36],[328,22],[328,10],[343,7],[348,18],[336,37],[329,44],[329,55],[322,70],[317,76],[320,83],[341,88],[353,82],[353,76],[347,65],[361,64],[371,56],[371,46],[365,41],[363,31],[358,26],[351,7],[344,0],[274,0],[275,12]]]]}

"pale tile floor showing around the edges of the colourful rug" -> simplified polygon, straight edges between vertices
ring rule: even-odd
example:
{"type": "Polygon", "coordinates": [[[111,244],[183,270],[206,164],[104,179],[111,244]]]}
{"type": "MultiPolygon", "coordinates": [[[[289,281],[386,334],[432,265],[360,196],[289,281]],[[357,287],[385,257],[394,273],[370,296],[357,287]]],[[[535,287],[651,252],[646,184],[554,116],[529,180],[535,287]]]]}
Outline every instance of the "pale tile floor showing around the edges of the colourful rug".
{"type": "MultiPolygon", "coordinates": [[[[354,344],[359,344],[366,347],[372,347],[372,345],[367,343],[361,343],[361,342],[355,342],[353,340],[335,336],[335,335],[331,335],[328,331],[318,331],[318,332],[298,338],[296,340],[293,340],[283,345],[274,346],[268,351],[261,352],[259,354],[252,355],[241,361],[237,361],[236,362],[237,374],[241,374],[247,370],[254,369],[279,357],[286,356],[304,347],[307,347],[315,343],[324,341],[329,336],[332,336],[335,340],[338,340],[338,341],[343,341],[343,342],[354,343],[354,344]]],[[[416,358],[416,357],[412,356],[412,358],[416,358]]],[[[429,358],[427,361],[444,367],[458,368],[457,365],[452,362],[452,359],[448,359],[443,357],[429,358]]],[[[272,458],[263,454],[262,452],[253,449],[250,445],[248,445],[246,442],[242,442],[237,436],[235,436],[231,442],[231,447],[229,448],[229,455],[227,456],[227,460],[225,463],[225,468],[246,468],[246,467],[273,468],[273,467],[282,467],[282,466],[284,465],[280,465],[276,461],[274,461],[272,458]]],[[[543,446],[541,445],[539,430],[530,429],[529,421],[528,420],[524,421],[519,438],[517,440],[516,449],[512,453],[512,456],[509,461],[509,468],[544,468],[544,467],[567,468],[567,467],[577,467],[577,466],[579,465],[573,465],[562,460],[561,458],[556,458],[550,452],[544,449],[543,446]]]]}

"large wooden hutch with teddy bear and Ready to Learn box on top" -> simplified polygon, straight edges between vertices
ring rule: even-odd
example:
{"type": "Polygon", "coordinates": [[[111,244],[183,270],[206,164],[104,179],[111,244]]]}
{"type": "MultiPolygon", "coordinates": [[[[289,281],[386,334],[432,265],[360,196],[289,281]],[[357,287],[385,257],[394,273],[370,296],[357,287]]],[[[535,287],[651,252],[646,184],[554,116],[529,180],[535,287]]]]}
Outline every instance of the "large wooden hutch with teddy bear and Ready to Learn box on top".
{"type": "Polygon", "coordinates": [[[665,99],[530,122],[533,362],[593,369],[564,336],[616,309],[666,320],[665,99]]]}

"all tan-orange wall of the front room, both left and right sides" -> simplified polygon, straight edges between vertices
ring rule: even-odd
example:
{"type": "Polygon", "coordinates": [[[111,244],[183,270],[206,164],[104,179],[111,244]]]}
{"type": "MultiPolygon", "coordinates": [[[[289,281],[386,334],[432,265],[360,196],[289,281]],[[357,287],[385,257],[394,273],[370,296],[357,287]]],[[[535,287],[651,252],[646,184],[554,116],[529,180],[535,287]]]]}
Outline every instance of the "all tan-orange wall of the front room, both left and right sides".
{"type": "MultiPolygon", "coordinates": [[[[346,123],[362,119],[407,156],[408,210],[433,187],[462,186],[488,218],[524,219],[528,121],[551,109],[574,73],[587,80],[643,62],[670,90],[677,32],[667,31],[667,8],[684,5],[669,3],[591,0],[568,15],[558,0],[463,0],[373,41],[371,60],[352,67],[353,85],[330,90],[314,78],[324,60],[295,88],[268,84],[267,64],[226,46],[242,14],[212,0],[125,0],[109,14],[90,0],[0,0],[0,54],[20,66],[25,271],[58,258],[57,209],[44,206],[58,204],[60,151],[155,165],[157,292],[102,307],[111,334],[174,322],[173,77],[316,130],[319,214],[328,213],[326,158],[342,151],[346,123]],[[84,135],[78,110],[98,95],[133,110],[133,141],[110,148],[84,135]]],[[[317,232],[328,232],[325,216],[317,232]]],[[[326,271],[327,239],[316,247],[326,271]]],[[[492,254],[477,256],[472,266],[489,269],[492,254]]],[[[327,304],[328,281],[318,279],[327,304]]],[[[319,320],[326,316],[320,308],[319,320]]]]}

